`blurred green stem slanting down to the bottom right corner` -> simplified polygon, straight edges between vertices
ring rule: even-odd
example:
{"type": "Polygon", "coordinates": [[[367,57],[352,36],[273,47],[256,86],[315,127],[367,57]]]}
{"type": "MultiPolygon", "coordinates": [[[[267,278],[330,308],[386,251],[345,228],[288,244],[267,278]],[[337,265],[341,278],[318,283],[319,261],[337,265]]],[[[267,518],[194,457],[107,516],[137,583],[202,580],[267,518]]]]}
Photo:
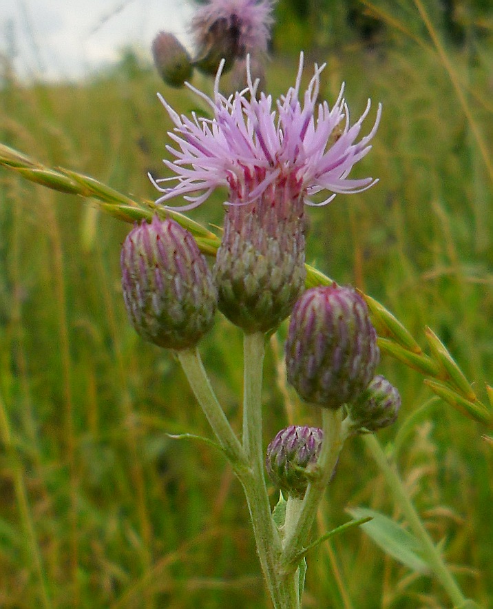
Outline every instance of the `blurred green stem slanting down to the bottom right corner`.
{"type": "Polygon", "coordinates": [[[413,506],[408,493],[406,492],[406,488],[404,488],[396,468],[390,465],[388,462],[387,457],[375,435],[365,435],[364,442],[368,448],[368,451],[370,451],[373,459],[379,466],[381,472],[384,474],[388,486],[390,486],[390,490],[394,495],[395,502],[401,508],[402,513],[406,517],[413,533],[416,535],[416,537],[418,537],[419,541],[421,541],[423,550],[426,553],[426,559],[428,560],[434,574],[437,576],[437,579],[439,579],[443,588],[445,588],[445,591],[449,595],[454,605],[462,605],[465,602],[465,597],[443,561],[438,548],[434,545],[430,535],[428,535],[428,531],[423,526],[423,523],[421,522],[421,519],[419,518],[416,508],[413,506]]]}

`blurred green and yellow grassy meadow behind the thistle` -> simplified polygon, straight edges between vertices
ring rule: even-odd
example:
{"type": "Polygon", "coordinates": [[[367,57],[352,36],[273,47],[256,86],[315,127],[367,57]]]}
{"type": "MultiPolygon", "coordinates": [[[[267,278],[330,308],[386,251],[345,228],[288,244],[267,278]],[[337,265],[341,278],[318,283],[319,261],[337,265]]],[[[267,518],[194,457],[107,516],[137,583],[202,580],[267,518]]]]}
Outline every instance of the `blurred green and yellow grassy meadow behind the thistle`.
{"type": "MultiPolygon", "coordinates": [[[[358,167],[379,184],[308,210],[308,262],[377,298],[423,347],[430,326],[483,401],[493,382],[488,6],[280,0],[266,78],[274,96],[285,92],[304,49],[306,82],[313,61],[328,64],[321,96],[329,103],[342,81],[353,117],[368,97],[374,109],[381,101],[373,150],[358,167]]],[[[183,111],[196,100],[163,85],[134,50],[78,83],[25,85],[3,59],[2,143],[156,198],[146,174],[165,174],[171,127],[156,91],[183,111]]],[[[223,200],[218,194],[189,216],[220,225],[223,200]]],[[[127,322],[119,269],[127,231],[92,200],[0,169],[0,606],[268,606],[231,468],[210,446],[166,435],[209,429],[178,362],[127,322]]],[[[280,371],[285,331],[266,355],[265,445],[288,422],[317,424],[280,371]]],[[[218,316],[201,352],[240,429],[240,332],[218,316]]],[[[396,360],[384,356],[379,372],[403,398],[397,424],[379,439],[395,446],[465,594],[493,607],[488,430],[433,398],[421,375],[396,360]]],[[[348,506],[402,521],[359,438],[346,444],[330,495],[321,530],[345,522],[348,506]]],[[[439,584],[355,530],[313,551],[304,606],[450,605],[439,584]]]]}

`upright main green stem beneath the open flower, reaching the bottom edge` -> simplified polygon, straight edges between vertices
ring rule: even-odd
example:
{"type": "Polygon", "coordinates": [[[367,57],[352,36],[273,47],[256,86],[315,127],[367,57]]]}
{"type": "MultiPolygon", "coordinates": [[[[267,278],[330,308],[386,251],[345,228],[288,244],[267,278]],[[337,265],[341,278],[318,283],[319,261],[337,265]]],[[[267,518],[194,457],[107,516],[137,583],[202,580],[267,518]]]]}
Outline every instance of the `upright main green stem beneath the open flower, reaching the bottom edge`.
{"type": "Polygon", "coordinates": [[[280,577],[279,558],[282,547],[275,527],[264,476],[262,450],[262,367],[264,335],[244,335],[244,395],[243,447],[249,460],[249,475],[240,476],[249,506],[257,552],[277,609],[299,607],[297,581],[294,577],[280,577]]]}

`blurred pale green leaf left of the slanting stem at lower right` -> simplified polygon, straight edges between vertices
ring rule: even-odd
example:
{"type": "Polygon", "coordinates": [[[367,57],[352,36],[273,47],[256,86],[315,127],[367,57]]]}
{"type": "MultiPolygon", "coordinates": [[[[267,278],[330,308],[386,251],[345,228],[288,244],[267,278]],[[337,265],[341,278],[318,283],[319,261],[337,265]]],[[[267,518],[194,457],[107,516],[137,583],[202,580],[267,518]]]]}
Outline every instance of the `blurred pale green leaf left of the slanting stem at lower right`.
{"type": "Polygon", "coordinates": [[[430,566],[423,559],[421,544],[408,530],[389,517],[368,508],[346,510],[353,518],[371,517],[371,522],[361,526],[386,554],[418,573],[427,573],[430,566]]]}

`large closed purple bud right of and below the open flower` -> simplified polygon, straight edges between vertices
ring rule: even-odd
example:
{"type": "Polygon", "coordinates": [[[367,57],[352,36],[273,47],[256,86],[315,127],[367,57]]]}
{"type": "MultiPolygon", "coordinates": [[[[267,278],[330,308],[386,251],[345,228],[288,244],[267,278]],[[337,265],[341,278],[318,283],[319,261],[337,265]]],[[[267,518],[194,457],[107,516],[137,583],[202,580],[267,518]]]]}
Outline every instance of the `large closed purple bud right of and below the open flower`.
{"type": "Polygon", "coordinates": [[[378,362],[377,333],[356,291],[333,284],[303,293],[291,315],[286,369],[306,402],[330,409],[355,402],[378,362]]]}

